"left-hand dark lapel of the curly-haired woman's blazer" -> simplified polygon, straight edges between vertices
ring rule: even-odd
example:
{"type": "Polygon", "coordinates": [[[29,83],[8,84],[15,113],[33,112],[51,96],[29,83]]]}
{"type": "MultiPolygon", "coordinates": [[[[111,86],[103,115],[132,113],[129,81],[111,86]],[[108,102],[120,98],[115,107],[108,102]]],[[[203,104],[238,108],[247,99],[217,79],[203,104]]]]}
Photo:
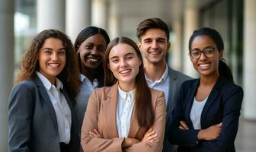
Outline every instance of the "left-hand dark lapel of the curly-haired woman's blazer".
{"type": "Polygon", "coordinates": [[[48,106],[49,111],[50,111],[50,115],[53,118],[53,123],[55,124],[54,126],[56,126],[56,131],[58,131],[58,123],[57,123],[56,113],[55,113],[55,110],[53,108],[53,104],[52,104],[52,102],[50,100],[50,97],[48,96],[48,93],[46,92],[46,88],[43,86],[42,81],[40,81],[40,78],[38,78],[37,75],[35,76],[33,81],[37,85],[38,90],[39,90],[41,96],[43,97],[43,101],[48,106]]]}

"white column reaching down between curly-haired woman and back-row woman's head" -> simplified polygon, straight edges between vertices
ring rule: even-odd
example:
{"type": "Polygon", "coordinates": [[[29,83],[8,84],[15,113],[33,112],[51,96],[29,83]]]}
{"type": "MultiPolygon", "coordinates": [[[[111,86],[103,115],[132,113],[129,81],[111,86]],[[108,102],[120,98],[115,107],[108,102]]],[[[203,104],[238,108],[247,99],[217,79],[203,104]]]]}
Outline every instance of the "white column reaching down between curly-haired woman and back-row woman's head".
{"type": "Polygon", "coordinates": [[[91,0],[66,0],[66,33],[75,43],[78,33],[91,24],[91,0]]]}

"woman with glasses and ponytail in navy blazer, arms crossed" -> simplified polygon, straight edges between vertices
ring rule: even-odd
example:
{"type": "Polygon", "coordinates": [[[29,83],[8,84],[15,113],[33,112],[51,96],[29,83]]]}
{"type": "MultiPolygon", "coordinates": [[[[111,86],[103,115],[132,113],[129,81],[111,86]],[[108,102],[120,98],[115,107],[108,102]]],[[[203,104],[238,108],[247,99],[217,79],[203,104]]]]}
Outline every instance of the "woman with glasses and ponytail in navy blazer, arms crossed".
{"type": "Polygon", "coordinates": [[[168,138],[178,151],[235,151],[234,141],[243,99],[224,62],[224,44],[216,30],[195,30],[189,55],[200,78],[181,86],[168,138]]]}

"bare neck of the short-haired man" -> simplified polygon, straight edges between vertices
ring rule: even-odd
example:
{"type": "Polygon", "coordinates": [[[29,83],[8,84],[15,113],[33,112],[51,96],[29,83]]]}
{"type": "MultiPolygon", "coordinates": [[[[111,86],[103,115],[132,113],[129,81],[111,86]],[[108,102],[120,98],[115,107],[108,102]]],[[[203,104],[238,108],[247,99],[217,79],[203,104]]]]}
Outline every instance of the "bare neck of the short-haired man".
{"type": "Polygon", "coordinates": [[[146,63],[145,73],[151,81],[157,81],[164,74],[166,66],[165,62],[158,64],[146,63]]]}

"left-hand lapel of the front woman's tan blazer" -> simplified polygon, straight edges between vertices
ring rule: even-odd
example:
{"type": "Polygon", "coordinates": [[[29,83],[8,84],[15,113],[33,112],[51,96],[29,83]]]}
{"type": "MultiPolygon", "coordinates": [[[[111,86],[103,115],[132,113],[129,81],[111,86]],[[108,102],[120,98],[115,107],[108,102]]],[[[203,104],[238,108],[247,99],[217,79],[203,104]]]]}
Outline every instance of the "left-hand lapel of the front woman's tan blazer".
{"type": "Polygon", "coordinates": [[[109,131],[110,138],[117,138],[117,87],[118,83],[110,87],[110,91],[107,94],[107,100],[104,100],[102,103],[102,108],[104,110],[104,116],[106,119],[106,126],[109,131]]]}

